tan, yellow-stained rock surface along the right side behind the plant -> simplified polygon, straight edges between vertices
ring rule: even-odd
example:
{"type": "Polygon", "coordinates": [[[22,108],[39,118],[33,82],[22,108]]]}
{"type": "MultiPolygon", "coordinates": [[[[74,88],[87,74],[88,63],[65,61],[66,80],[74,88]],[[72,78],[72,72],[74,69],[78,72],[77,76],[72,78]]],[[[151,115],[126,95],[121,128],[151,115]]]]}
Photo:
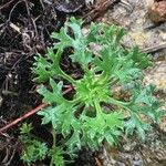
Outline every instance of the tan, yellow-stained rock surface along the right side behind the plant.
{"type": "MultiPolygon", "coordinates": [[[[138,45],[145,50],[166,42],[166,22],[156,25],[148,15],[149,6],[154,0],[125,0],[126,6],[117,3],[110,9],[103,22],[123,27],[127,34],[123,41],[126,48],[138,45]],[[129,4],[129,6],[128,6],[129,4]]],[[[166,10],[165,10],[166,11],[166,10]]],[[[155,52],[149,49],[154,65],[145,71],[145,84],[155,84],[157,97],[166,110],[166,46],[155,52]]],[[[166,166],[166,117],[152,133],[145,143],[133,138],[118,148],[104,146],[103,166],[166,166]],[[162,134],[163,132],[164,134],[162,134]]]]}

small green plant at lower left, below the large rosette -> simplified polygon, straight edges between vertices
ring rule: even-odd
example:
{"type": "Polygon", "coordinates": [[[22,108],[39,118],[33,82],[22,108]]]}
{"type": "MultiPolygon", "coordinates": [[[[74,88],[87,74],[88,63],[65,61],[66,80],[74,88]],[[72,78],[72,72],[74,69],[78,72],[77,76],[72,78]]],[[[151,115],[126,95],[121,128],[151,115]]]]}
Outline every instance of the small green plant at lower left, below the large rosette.
{"type": "MultiPolygon", "coordinates": [[[[56,147],[55,142],[53,142],[52,148],[49,148],[45,143],[38,141],[38,138],[31,134],[31,124],[23,123],[20,127],[21,135],[19,139],[23,145],[21,159],[28,165],[31,165],[38,160],[43,160],[46,157],[51,157],[50,166],[64,166],[65,160],[63,159],[63,155],[65,153],[63,149],[61,147],[56,147]]],[[[53,138],[55,138],[54,132],[52,135],[53,138]]]]}

